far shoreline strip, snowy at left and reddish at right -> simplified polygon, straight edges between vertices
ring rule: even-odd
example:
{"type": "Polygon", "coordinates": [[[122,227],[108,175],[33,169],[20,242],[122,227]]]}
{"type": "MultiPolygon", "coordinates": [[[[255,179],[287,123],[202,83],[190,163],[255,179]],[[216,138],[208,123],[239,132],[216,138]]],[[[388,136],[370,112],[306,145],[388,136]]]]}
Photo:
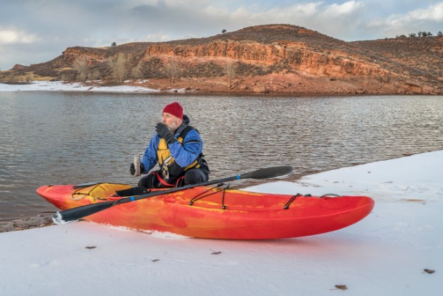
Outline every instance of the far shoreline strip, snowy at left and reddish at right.
{"type": "MultiPolygon", "coordinates": [[[[252,79],[252,78],[251,78],[252,79]]],[[[243,80],[242,80],[243,81],[243,80]]],[[[335,87],[327,82],[314,85],[302,85],[289,88],[284,86],[287,81],[264,82],[251,80],[250,85],[260,87],[228,87],[223,79],[204,80],[195,82],[192,79],[182,79],[176,82],[169,80],[126,80],[125,82],[109,82],[94,80],[87,82],[65,82],[34,80],[31,82],[0,82],[0,92],[101,92],[166,95],[179,94],[184,96],[263,96],[263,97],[324,97],[324,96],[438,96],[440,94],[415,94],[397,92],[378,92],[370,89],[355,89],[345,86],[335,87]],[[266,85],[269,84],[269,85],[266,85]]],[[[301,82],[300,82],[301,83],[301,82]]]]}

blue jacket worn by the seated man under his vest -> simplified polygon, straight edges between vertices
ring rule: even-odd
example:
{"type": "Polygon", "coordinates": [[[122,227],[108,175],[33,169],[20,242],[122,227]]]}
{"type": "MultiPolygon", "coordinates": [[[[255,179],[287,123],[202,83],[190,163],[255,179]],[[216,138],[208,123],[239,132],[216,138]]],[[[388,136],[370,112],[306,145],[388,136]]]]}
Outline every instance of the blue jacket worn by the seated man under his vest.
{"type": "MultiPolygon", "coordinates": [[[[186,128],[190,123],[188,116],[183,115],[183,123],[181,123],[180,127],[176,130],[174,136],[177,138],[181,131],[186,128]]],[[[159,134],[154,134],[149,145],[146,147],[145,154],[141,159],[141,163],[145,166],[145,172],[149,172],[154,166],[159,162],[157,157],[157,148],[159,147],[160,137],[159,134]]],[[[203,141],[201,141],[201,137],[197,130],[192,129],[188,134],[186,134],[185,139],[183,139],[183,143],[180,144],[179,141],[176,141],[169,145],[169,150],[174,157],[175,162],[179,164],[182,168],[189,166],[192,162],[195,162],[197,157],[201,154],[203,150],[203,141]]]]}

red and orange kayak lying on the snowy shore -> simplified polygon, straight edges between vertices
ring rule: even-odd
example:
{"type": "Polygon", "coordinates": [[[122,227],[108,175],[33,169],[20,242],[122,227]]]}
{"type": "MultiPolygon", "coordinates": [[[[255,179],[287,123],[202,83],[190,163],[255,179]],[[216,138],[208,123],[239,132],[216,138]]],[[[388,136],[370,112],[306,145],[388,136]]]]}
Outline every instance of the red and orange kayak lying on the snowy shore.
{"type": "MultiPolygon", "coordinates": [[[[59,209],[118,200],[125,184],[42,186],[37,193],[59,209]]],[[[367,196],[315,197],[254,193],[197,186],[118,204],[86,220],[196,238],[271,239],[311,236],[342,229],[368,216],[367,196]]]]}

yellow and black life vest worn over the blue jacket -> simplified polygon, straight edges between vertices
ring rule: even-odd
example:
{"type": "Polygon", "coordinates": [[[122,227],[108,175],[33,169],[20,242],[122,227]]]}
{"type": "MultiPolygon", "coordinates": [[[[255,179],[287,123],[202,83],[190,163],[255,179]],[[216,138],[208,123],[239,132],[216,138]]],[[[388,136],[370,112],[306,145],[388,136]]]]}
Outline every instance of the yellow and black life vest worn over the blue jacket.
{"type": "MultiPolygon", "coordinates": [[[[188,125],[180,132],[179,137],[177,137],[177,141],[179,141],[180,145],[183,143],[183,139],[185,139],[186,134],[188,134],[188,132],[191,130],[195,130],[195,128],[188,125]]],[[[198,130],[196,131],[199,132],[198,130]]],[[[174,182],[176,182],[179,177],[183,176],[184,173],[190,168],[199,168],[201,166],[201,159],[203,158],[202,155],[199,155],[199,157],[197,157],[192,164],[186,166],[186,168],[182,168],[179,166],[179,164],[177,164],[177,162],[175,162],[174,157],[172,157],[165,139],[160,139],[159,141],[157,157],[159,159],[159,173],[161,173],[161,176],[159,177],[161,177],[163,181],[167,182],[168,184],[174,184],[174,182]]]]}

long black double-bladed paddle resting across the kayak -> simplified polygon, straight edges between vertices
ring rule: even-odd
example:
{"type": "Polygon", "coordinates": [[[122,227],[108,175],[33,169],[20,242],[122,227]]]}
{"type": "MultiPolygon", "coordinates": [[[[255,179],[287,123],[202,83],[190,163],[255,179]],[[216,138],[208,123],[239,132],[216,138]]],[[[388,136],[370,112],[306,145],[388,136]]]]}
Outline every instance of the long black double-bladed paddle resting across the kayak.
{"type": "Polygon", "coordinates": [[[198,184],[188,184],[182,187],[176,187],[168,190],[159,190],[150,193],[145,193],[136,196],[129,196],[127,198],[121,198],[120,200],[109,201],[109,202],[97,202],[95,204],[87,204],[82,207],[75,207],[72,209],[66,209],[64,211],[57,211],[57,213],[53,214],[53,221],[55,224],[64,224],[74,222],[86,216],[96,214],[99,211],[103,211],[105,209],[109,209],[110,207],[114,207],[117,204],[123,204],[125,202],[133,202],[134,200],[143,200],[144,198],[152,198],[157,195],[165,195],[169,193],[174,193],[177,191],[183,191],[186,189],[191,189],[197,186],[206,186],[212,184],[219,184],[223,182],[240,180],[240,179],[270,179],[273,177],[279,177],[282,175],[287,175],[293,171],[292,166],[273,166],[271,168],[260,168],[257,171],[253,171],[251,173],[245,173],[242,175],[235,175],[233,177],[226,177],[224,179],[213,180],[198,184]]]}

